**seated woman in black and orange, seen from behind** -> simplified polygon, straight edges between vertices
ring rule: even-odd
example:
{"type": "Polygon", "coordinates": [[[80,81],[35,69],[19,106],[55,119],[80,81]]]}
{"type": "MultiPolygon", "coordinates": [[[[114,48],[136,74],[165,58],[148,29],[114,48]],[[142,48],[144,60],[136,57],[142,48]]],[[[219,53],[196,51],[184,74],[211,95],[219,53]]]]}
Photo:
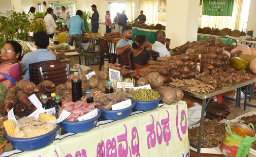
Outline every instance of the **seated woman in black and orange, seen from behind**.
{"type": "Polygon", "coordinates": [[[132,43],[132,65],[133,69],[141,68],[146,65],[149,60],[153,60],[150,52],[146,50],[148,46],[148,40],[145,35],[137,35],[135,41],[132,43]]]}

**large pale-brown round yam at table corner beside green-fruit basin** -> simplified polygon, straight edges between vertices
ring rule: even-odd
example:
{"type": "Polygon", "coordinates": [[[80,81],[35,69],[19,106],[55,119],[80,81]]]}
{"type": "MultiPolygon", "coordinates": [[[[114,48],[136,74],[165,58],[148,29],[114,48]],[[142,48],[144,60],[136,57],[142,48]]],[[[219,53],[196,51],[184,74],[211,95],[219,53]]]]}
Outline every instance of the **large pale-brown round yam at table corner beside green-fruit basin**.
{"type": "MultiPolygon", "coordinates": [[[[162,102],[165,104],[172,104],[176,100],[176,90],[167,86],[160,86],[155,88],[162,95],[162,102]]],[[[181,97],[180,97],[181,98],[181,97]]]]}

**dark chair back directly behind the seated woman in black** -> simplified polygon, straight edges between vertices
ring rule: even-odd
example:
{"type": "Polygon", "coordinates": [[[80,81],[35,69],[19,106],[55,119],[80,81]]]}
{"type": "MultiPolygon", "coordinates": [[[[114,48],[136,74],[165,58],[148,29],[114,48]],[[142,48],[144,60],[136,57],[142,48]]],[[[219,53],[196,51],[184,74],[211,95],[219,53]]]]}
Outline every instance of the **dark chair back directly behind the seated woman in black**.
{"type": "Polygon", "coordinates": [[[118,62],[121,66],[125,65],[129,70],[133,70],[131,62],[132,52],[131,49],[127,49],[124,53],[118,55],[118,62]]]}

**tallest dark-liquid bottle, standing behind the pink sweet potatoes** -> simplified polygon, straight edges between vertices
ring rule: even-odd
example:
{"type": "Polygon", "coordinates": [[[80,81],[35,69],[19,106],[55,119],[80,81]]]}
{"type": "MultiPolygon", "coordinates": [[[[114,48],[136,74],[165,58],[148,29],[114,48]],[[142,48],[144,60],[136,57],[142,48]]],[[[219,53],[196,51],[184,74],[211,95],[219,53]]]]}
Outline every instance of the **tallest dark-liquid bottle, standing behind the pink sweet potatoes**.
{"type": "Polygon", "coordinates": [[[77,102],[83,96],[82,80],[78,76],[78,72],[75,72],[74,75],[75,76],[71,80],[71,85],[72,85],[72,101],[73,102],[77,102]]]}

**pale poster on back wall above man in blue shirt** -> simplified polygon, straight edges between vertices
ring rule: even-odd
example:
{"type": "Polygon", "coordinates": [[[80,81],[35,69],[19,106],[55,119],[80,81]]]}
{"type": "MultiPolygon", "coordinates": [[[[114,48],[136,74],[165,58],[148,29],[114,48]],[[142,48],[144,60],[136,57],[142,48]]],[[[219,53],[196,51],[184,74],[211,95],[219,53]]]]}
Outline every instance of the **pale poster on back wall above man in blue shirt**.
{"type": "Polygon", "coordinates": [[[53,4],[53,10],[54,14],[57,16],[60,16],[63,18],[64,16],[64,11],[62,11],[61,7],[64,6],[67,11],[69,11],[70,16],[74,16],[76,11],[75,11],[75,4],[74,3],[58,3],[58,4],[53,4]]]}

